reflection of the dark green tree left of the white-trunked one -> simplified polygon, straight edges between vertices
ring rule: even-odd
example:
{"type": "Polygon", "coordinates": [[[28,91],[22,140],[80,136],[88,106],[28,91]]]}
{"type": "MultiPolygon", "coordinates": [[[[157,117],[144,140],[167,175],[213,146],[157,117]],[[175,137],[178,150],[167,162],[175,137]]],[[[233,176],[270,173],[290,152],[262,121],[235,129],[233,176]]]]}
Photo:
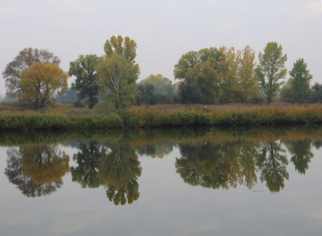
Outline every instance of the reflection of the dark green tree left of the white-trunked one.
{"type": "Polygon", "coordinates": [[[107,149],[99,147],[97,141],[79,142],[80,151],[73,155],[77,167],[71,167],[73,182],[79,182],[82,188],[98,188],[102,183],[98,178],[98,167],[102,152],[107,149]]]}

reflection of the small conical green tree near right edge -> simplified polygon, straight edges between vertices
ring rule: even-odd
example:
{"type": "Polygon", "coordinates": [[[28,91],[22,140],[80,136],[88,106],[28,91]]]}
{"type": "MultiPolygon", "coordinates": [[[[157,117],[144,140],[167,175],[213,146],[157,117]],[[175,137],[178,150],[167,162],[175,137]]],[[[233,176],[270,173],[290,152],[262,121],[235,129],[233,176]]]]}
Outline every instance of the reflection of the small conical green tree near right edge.
{"type": "Polygon", "coordinates": [[[305,174],[308,170],[308,163],[314,157],[311,152],[311,140],[303,139],[296,142],[286,142],[286,146],[291,153],[291,162],[295,166],[295,170],[300,174],[305,174]]]}

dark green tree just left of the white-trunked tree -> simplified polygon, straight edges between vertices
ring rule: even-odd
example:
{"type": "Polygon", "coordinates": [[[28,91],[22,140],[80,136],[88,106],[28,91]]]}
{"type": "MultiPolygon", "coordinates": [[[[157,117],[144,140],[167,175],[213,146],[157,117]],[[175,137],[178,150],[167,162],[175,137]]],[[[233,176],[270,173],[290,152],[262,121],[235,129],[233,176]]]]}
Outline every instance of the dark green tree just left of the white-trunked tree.
{"type": "Polygon", "coordinates": [[[78,98],[88,97],[89,108],[98,102],[99,83],[96,65],[100,58],[95,54],[79,55],[78,59],[69,63],[69,76],[74,75],[75,81],[71,84],[73,89],[79,91],[78,98]]]}

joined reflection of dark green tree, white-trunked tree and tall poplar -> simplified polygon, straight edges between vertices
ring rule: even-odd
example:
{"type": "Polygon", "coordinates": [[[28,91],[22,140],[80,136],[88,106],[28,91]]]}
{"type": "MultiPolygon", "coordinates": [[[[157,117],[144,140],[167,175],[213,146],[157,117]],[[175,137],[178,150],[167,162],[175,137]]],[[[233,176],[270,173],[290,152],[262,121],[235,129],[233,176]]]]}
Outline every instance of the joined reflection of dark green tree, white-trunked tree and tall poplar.
{"type": "Polygon", "coordinates": [[[82,188],[104,185],[109,201],[115,205],[137,201],[142,168],[134,147],[128,143],[80,141],[78,148],[80,151],[73,155],[78,166],[71,167],[72,181],[82,188]]]}

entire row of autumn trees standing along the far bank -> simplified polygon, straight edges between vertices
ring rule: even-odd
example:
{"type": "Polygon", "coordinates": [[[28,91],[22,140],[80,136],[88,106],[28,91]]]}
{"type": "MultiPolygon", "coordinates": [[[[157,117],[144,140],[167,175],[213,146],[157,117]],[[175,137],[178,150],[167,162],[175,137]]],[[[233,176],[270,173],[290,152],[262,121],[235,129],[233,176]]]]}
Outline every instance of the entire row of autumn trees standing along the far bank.
{"type": "Polygon", "coordinates": [[[6,96],[34,109],[54,103],[57,94],[59,102],[90,109],[99,100],[116,109],[133,104],[270,104],[277,97],[290,103],[322,102],[322,84],[310,85],[313,76],[304,59],[296,60],[288,72],[287,54],[276,42],[266,44],[258,62],[249,45],[242,50],[221,46],[189,51],[174,65],[175,84],[162,74],[137,83],[136,49],[133,39],[113,35],[104,44],[103,56],[79,55],[66,73],[52,52],[25,48],[2,73],[6,96]],[[68,76],[75,77],[69,89],[68,76]]]}

